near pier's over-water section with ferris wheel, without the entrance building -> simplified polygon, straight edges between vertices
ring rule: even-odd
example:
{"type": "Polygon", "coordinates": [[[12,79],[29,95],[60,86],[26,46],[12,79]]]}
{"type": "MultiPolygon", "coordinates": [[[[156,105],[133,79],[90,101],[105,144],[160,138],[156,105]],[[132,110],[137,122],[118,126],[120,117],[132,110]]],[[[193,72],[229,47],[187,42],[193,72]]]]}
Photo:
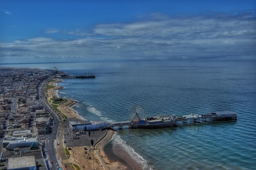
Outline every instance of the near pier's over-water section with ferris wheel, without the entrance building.
{"type": "Polygon", "coordinates": [[[178,116],[173,115],[159,115],[157,117],[144,117],[144,108],[141,105],[134,105],[128,111],[130,121],[116,122],[108,124],[111,128],[123,129],[127,128],[141,128],[141,129],[155,129],[167,128],[178,125],[206,123],[209,121],[236,121],[237,114],[230,111],[211,112],[209,114],[193,114],[178,116]],[[142,117],[142,118],[141,118],[142,117]]]}

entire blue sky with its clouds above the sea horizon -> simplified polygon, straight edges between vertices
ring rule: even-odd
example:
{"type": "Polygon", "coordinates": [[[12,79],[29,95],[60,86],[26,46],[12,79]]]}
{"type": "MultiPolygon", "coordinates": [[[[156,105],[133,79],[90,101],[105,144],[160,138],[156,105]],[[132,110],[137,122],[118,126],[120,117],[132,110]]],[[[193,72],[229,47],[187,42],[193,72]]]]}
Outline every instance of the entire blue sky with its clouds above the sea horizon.
{"type": "Polygon", "coordinates": [[[0,64],[256,60],[255,0],[0,4],[0,64]]]}

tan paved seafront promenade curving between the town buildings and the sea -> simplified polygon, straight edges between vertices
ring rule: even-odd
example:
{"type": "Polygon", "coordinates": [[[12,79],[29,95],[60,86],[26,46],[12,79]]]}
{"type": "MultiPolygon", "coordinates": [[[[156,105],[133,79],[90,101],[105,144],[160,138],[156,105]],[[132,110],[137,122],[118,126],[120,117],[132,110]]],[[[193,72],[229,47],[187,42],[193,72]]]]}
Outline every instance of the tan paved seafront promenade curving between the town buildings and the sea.
{"type": "MultiPolygon", "coordinates": [[[[58,128],[58,130],[56,131],[56,134],[55,131],[53,131],[51,137],[53,139],[55,139],[56,137],[56,140],[52,146],[56,147],[56,157],[60,167],[64,170],[72,170],[74,169],[74,166],[72,168],[70,164],[72,163],[79,166],[81,170],[106,170],[116,169],[118,167],[121,167],[123,168],[123,170],[125,170],[126,166],[119,161],[114,161],[110,163],[110,160],[108,160],[105,152],[102,151],[102,148],[108,143],[108,141],[110,141],[112,135],[114,134],[112,130],[110,130],[107,135],[105,134],[105,130],[93,131],[90,137],[88,136],[87,132],[86,134],[79,135],[80,139],[72,139],[75,134],[69,129],[69,119],[73,117],[76,117],[77,119],[83,118],[79,116],[74,109],[71,108],[72,106],[74,106],[74,104],[78,103],[73,99],[65,99],[65,102],[61,102],[60,104],[51,103],[51,99],[58,97],[56,90],[63,88],[61,86],[56,86],[56,83],[58,82],[61,81],[58,79],[53,79],[53,77],[48,79],[47,84],[44,85],[45,93],[42,99],[43,102],[45,102],[45,106],[47,106],[48,110],[54,113],[54,117],[56,117],[56,120],[58,122],[54,124],[55,128],[58,128]],[[101,141],[97,142],[95,150],[88,149],[86,150],[87,153],[85,153],[84,146],[86,146],[87,148],[92,148],[92,146],[89,145],[90,140],[94,140],[96,142],[99,139],[101,139],[101,141]],[[98,146],[101,146],[99,153],[97,153],[98,146]],[[65,148],[71,149],[69,150],[69,158],[67,157],[65,148]]],[[[51,146],[49,145],[49,147],[51,146]]],[[[55,158],[54,156],[50,156],[50,159],[54,160],[55,158]]],[[[56,168],[54,167],[54,165],[52,165],[52,167],[54,169],[56,168]]]]}

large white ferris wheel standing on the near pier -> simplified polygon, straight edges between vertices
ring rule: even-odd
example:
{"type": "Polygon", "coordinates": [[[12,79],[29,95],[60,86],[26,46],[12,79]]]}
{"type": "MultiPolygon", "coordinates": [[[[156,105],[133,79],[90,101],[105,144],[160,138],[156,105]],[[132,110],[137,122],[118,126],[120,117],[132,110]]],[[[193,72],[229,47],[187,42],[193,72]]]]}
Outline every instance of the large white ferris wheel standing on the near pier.
{"type": "Polygon", "coordinates": [[[144,108],[139,104],[132,105],[128,110],[128,117],[130,121],[141,120],[144,118],[144,115],[144,108]]]}

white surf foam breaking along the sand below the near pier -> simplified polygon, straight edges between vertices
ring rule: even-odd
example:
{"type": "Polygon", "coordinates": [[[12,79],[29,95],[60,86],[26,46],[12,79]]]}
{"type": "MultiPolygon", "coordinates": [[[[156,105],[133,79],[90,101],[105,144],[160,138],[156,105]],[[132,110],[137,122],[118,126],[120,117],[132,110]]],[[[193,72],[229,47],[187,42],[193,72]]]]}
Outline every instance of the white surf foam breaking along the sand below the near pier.
{"type": "Polygon", "coordinates": [[[121,139],[120,135],[113,135],[112,137],[113,143],[118,144],[121,146],[131,157],[134,159],[143,170],[153,170],[150,165],[148,165],[148,161],[146,161],[141,155],[139,155],[135,150],[128,144],[126,144],[126,141],[121,139]]]}

